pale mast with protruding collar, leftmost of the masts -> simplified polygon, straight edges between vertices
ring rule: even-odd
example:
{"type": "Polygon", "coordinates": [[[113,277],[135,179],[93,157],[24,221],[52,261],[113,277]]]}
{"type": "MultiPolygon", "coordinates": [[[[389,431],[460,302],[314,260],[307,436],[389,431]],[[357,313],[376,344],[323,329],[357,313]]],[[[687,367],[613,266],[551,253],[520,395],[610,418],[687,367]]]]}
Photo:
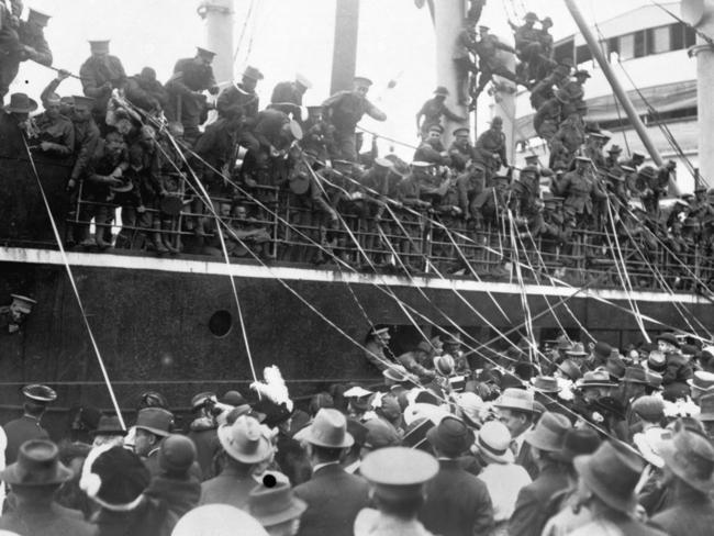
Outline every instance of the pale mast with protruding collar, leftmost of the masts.
{"type": "Polygon", "coordinates": [[[221,87],[233,82],[233,0],[203,0],[198,8],[205,47],[215,53],[213,75],[221,87]]]}

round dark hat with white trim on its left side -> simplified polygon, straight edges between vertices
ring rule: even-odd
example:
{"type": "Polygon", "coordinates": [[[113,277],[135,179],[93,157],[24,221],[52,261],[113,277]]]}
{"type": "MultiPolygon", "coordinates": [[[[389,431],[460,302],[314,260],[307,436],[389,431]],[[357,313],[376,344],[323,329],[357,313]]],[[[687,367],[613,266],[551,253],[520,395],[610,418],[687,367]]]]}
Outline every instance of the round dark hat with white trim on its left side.
{"type": "Polygon", "coordinates": [[[142,503],[149,481],[148,469],[138,456],[108,444],[89,453],[79,488],[107,510],[129,512],[142,503]]]}

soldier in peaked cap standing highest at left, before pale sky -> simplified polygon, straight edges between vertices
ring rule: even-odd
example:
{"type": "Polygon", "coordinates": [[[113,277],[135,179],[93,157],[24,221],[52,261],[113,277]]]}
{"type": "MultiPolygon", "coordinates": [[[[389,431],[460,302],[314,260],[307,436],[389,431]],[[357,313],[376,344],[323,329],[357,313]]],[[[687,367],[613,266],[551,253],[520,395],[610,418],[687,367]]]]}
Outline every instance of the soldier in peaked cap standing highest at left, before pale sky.
{"type": "Polygon", "coordinates": [[[90,41],[91,56],[79,68],[82,90],[94,99],[92,115],[101,127],[105,125],[107,107],[114,89],[126,85],[126,72],[122,62],[109,54],[109,40],[90,41]]]}

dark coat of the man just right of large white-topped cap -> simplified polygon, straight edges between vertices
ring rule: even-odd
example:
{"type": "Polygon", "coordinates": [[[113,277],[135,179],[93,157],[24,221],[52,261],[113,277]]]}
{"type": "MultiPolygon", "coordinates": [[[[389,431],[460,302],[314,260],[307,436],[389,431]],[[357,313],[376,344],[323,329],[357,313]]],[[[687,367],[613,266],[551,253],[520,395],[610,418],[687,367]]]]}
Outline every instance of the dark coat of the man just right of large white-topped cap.
{"type": "Polygon", "coordinates": [[[458,460],[439,460],[439,471],[426,483],[426,501],[419,518],[440,536],[489,534],[493,506],[486,484],[459,466],[458,460]]]}

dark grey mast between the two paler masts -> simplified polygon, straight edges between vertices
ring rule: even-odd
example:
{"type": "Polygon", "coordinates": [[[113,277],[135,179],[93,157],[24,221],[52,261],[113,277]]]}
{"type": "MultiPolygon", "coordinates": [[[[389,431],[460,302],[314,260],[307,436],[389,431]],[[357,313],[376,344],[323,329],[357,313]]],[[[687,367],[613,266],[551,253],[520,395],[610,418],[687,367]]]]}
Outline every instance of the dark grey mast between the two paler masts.
{"type": "Polygon", "coordinates": [[[357,67],[359,0],[337,0],[330,93],[352,89],[357,67]]]}

